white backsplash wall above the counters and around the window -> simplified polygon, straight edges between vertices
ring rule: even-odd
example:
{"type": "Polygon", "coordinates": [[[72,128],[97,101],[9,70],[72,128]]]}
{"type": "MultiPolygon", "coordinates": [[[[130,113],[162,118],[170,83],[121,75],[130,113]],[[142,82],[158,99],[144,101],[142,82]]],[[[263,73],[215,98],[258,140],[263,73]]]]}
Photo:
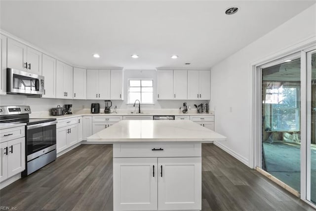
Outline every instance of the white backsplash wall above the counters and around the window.
{"type": "MultiPolygon", "coordinates": [[[[156,70],[125,70],[124,71],[124,101],[112,101],[112,107],[118,106],[118,109],[130,109],[133,110],[132,105],[127,105],[127,88],[128,88],[128,79],[154,79],[154,105],[142,106],[143,110],[146,109],[177,109],[180,106],[183,106],[184,102],[187,102],[188,106],[194,108],[194,104],[209,103],[209,101],[181,101],[181,100],[172,100],[172,101],[157,101],[156,97],[156,81],[157,74],[156,70]]],[[[0,96],[0,106],[16,106],[16,105],[25,105],[31,106],[32,112],[40,111],[49,111],[50,108],[56,107],[57,105],[63,106],[64,104],[73,104],[73,110],[90,108],[91,103],[99,103],[101,106],[101,112],[104,109],[105,103],[103,100],[62,100],[62,99],[39,99],[27,96],[20,95],[5,95],[0,96]]]]}

